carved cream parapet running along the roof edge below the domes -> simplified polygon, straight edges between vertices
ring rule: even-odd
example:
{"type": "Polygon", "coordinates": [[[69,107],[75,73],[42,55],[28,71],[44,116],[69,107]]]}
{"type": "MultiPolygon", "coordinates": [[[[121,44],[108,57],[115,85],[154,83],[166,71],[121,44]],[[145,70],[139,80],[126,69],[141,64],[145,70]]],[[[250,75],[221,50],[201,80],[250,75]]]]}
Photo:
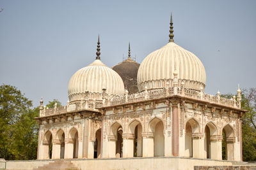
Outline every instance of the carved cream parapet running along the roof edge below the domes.
{"type": "Polygon", "coordinates": [[[102,101],[88,101],[88,100],[81,100],[77,101],[76,103],[68,103],[67,106],[61,107],[54,107],[54,108],[43,108],[42,104],[40,105],[40,117],[47,117],[50,115],[60,115],[62,113],[70,113],[76,111],[99,111],[99,108],[106,107],[106,106],[116,106],[120,104],[129,104],[129,103],[138,103],[141,101],[148,101],[152,99],[160,99],[164,97],[172,97],[172,96],[180,96],[180,97],[190,97],[193,99],[198,99],[202,101],[207,101],[209,103],[214,104],[222,104],[224,106],[229,106],[233,108],[240,108],[241,100],[236,100],[236,96],[232,99],[226,99],[220,97],[220,93],[217,96],[211,94],[205,94],[204,92],[186,89],[183,87],[166,87],[163,89],[155,89],[155,90],[146,90],[140,93],[128,95],[127,93],[124,96],[120,97],[111,97],[111,96],[104,96],[102,101]]]}

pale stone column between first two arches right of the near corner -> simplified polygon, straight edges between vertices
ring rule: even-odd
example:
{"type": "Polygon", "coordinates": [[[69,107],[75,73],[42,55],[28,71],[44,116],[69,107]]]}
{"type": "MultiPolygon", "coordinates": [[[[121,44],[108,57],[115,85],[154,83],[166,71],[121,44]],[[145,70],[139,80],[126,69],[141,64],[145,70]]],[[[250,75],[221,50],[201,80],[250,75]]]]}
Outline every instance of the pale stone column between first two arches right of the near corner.
{"type": "Polygon", "coordinates": [[[193,158],[204,158],[204,134],[192,134],[193,158]]]}

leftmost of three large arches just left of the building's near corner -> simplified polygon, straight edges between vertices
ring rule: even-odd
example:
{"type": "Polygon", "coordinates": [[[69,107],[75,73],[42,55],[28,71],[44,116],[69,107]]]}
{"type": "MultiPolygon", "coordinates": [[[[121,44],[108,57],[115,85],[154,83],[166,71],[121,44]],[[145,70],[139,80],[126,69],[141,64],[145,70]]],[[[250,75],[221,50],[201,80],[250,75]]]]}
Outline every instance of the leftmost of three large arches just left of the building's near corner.
{"type": "Polygon", "coordinates": [[[109,141],[109,157],[122,157],[123,155],[123,129],[120,124],[115,122],[110,127],[111,138],[109,141]]]}

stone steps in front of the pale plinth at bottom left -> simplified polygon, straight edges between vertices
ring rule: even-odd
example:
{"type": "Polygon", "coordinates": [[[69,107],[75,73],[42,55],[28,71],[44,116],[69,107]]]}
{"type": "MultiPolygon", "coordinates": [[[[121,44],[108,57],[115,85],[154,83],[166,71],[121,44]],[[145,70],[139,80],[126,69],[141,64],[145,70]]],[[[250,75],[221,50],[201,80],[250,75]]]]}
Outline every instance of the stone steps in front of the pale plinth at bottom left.
{"type": "Polygon", "coordinates": [[[58,160],[55,162],[50,162],[44,166],[34,168],[33,170],[79,170],[72,162],[68,160],[58,160]]]}

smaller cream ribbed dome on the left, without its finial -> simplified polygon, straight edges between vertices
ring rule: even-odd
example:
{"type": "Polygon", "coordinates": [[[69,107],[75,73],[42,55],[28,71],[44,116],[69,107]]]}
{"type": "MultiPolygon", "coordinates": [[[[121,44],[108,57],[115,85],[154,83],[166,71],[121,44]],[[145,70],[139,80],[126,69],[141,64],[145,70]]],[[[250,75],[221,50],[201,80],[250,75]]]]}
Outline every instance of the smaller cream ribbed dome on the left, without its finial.
{"type": "Polygon", "coordinates": [[[107,94],[113,96],[124,94],[124,83],[118,73],[96,59],[72,76],[68,84],[68,97],[70,102],[81,100],[86,97],[88,91],[89,100],[102,100],[104,88],[107,94]]]}

